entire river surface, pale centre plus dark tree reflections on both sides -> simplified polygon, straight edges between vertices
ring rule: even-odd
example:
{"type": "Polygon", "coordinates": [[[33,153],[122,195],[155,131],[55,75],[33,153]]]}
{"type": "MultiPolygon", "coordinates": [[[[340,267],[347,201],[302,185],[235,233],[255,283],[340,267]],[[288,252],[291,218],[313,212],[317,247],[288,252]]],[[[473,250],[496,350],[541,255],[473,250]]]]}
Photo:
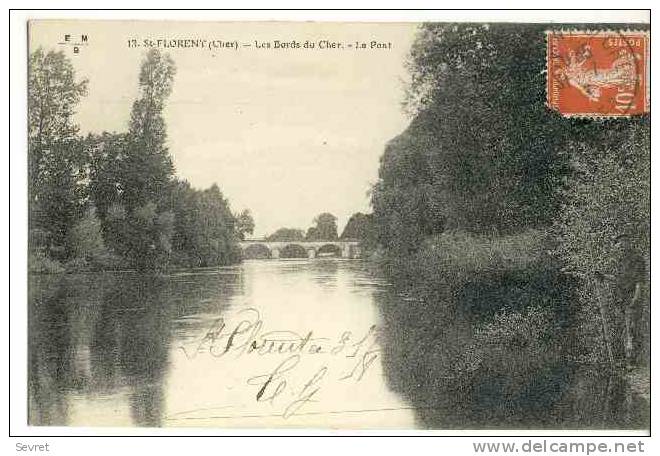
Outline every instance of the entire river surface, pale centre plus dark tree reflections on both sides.
{"type": "Polygon", "coordinates": [[[470,324],[360,260],[29,285],[31,425],[601,428],[631,409],[611,379],[550,362],[518,402],[501,378],[448,387],[470,324]]]}

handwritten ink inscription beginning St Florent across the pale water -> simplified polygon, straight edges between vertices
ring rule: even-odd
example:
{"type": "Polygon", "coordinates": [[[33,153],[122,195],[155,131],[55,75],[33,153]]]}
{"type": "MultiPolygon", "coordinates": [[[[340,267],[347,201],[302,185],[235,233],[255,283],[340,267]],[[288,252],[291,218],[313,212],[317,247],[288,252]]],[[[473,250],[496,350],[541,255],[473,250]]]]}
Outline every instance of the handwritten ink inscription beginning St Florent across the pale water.
{"type": "Polygon", "coordinates": [[[313,330],[297,333],[290,330],[265,331],[259,311],[247,308],[239,312],[240,321],[228,325],[224,318],[215,319],[198,340],[179,348],[188,359],[199,355],[222,358],[281,355],[274,368],[253,375],[246,381],[254,387],[257,403],[283,407],[282,417],[299,413],[306,404],[318,401],[321,389],[331,382],[360,382],[380,356],[377,328],[372,325],[363,334],[342,331],[337,337],[318,337],[313,330]],[[339,363],[305,369],[303,358],[329,356],[345,359],[339,363]],[[311,372],[311,375],[310,375],[311,372]]]}

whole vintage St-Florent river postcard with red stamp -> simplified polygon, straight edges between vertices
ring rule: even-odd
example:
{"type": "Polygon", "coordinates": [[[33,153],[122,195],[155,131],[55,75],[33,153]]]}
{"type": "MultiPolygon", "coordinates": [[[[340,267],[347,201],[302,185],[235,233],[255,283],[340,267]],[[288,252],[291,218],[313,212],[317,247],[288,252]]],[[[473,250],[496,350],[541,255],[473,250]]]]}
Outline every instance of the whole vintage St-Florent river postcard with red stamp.
{"type": "Polygon", "coordinates": [[[649,34],[31,20],[27,424],[648,432],[649,34]]]}

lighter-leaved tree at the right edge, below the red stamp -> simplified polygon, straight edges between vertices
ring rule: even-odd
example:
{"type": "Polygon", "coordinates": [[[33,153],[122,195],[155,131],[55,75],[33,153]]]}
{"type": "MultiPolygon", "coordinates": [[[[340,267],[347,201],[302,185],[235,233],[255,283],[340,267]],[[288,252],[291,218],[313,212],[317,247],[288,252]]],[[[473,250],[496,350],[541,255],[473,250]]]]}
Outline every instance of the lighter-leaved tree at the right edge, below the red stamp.
{"type": "Polygon", "coordinates": [[[648,361],[650,151],[648,117],[567,149],[573,173],[555,223],[557,252],[580,283],[584,354],[612,368],[648,361]]]}

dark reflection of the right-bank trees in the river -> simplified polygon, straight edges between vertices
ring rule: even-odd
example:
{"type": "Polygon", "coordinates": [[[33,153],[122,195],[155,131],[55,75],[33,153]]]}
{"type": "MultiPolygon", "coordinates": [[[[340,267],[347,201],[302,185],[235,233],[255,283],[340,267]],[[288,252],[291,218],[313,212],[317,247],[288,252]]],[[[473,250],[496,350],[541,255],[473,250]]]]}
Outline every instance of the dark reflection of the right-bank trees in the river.
{"type": "MultiPolygon", "coordinates": [[[[535,280],[529,278],[530,290],[535,280]]],[[[464,291],[473,305],[487,300],[497,308],[514,300],[498,296],[503,288],[497,285],[471,286],[481,287],[464,291]]],[[[623,382],[576,370],[566,359],[561,340],[567,334],[552,324],[565,317],[561,311],[520,309],[484,324],[483,312],[455,312],[432,299],[390,293],[376,299],[388,385],[416,409],[422,427],[643,427],[634,413],[639,404],[631,404],[623,382]]]]}

